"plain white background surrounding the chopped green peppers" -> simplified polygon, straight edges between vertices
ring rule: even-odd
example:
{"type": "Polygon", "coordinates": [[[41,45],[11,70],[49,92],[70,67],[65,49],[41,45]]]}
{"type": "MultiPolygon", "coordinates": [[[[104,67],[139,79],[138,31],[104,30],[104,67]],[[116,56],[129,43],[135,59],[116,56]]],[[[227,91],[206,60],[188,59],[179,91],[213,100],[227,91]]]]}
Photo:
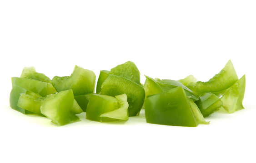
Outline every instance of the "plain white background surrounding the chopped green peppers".
{"type": "Polygon", "coordinates": [[[255,0],[1,0],[0,162],[255,163],[255,0]],[[246,74],[244,110],[210,125],[85,119],[56,127],[10,109],[10,77],[34,66],[50,78],[75,64],[110,70],[128,60],[150,77],[207,81],[231,59],[246,74]]]}

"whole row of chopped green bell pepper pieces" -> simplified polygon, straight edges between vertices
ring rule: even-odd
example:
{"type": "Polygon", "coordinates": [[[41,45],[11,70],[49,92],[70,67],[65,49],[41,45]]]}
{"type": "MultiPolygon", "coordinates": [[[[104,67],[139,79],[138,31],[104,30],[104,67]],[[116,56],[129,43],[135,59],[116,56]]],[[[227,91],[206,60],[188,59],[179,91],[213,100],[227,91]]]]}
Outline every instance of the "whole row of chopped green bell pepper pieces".
{"type": "Polygon", "coordinates": [[[68,77],[49,77],[25,67],[20,77],[12,77],[10,107],[23,114],[45,116],[56,125],[88,120],[124,121],[145,109],[147,123],[175,126],[209,124],[204,117],[217,110],[228,113],[243,109],[245,75],[238,79],[231,61],[208,82],[192,75],[175,81],[146,76],[131,62],[110,71],[100,71],[95,90],[95,73],[75,66],[68,77]]]}

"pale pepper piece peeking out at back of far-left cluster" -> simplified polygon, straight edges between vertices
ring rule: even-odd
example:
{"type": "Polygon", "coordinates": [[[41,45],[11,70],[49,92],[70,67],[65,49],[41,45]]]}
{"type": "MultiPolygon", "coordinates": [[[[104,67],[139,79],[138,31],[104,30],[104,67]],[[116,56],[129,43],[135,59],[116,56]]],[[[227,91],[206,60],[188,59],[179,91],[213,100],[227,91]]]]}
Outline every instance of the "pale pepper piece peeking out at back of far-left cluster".
{"type": "Polygon", "coordinates": [[[20,77],[51,83],[50,78],[46,77],[43,73],[36,72],[35,67],[24,67],[20,77]]]}

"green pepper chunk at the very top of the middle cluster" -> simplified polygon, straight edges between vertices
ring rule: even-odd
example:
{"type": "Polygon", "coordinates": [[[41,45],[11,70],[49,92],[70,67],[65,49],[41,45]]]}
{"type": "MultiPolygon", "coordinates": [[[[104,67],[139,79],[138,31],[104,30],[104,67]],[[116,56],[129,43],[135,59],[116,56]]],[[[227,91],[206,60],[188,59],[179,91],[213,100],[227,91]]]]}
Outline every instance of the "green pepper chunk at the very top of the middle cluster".
{"type": "Polygon", "coordinates": [[[137,84],[141,84],[141,73],[139,69],[136,67],[134,62],[128,61],[123,64],[120,64],[110,70],[112,75],[125,77],[137,84]]]}

